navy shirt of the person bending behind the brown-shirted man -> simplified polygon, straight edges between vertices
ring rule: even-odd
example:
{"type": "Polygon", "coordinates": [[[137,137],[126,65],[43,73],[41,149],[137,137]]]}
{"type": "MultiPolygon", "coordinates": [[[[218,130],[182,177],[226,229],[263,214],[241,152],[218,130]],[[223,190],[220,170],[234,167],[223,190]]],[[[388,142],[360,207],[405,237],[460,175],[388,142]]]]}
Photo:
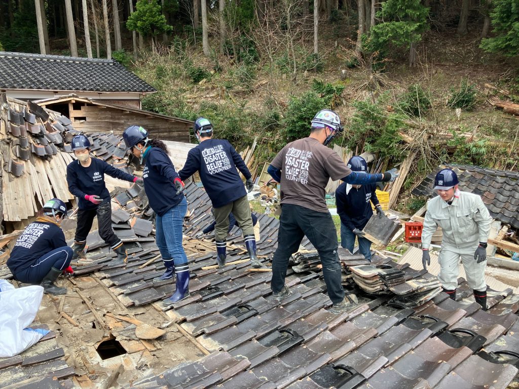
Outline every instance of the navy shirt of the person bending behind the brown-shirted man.
{"type": "Polygon", "coordinates": [[[344,224],[350,231],[358,228],[362,230],[368,220],[373,216],[370,201],[373,205],[378,204],[375,189],[376,184],[365,184],[359,189],[351,187],[346,193],[349,184],[340,184],[335,191],[335,202],[340,223],[344,224]]]}

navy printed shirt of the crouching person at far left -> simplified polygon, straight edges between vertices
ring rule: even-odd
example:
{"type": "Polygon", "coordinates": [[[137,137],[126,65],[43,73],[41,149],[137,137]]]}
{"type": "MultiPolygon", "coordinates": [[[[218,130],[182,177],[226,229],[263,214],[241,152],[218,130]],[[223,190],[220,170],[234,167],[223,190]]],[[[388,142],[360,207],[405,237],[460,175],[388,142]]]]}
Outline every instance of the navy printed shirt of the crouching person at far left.
{"type": "Polygon", "coordinates": [[[11,251],[7,267],[12,274],[34,265],[53,249],[66,246],[65,234],[56,223],[38,220],[23,230],[11,251]]]}

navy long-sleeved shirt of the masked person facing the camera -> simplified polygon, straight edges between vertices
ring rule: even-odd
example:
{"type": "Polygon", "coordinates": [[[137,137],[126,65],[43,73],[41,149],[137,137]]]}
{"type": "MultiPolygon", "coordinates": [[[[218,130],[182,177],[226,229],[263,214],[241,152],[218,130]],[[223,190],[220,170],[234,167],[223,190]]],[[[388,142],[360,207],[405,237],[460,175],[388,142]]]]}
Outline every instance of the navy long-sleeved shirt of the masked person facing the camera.
{"type": "Polygon", "coordinates": [[[103,202],[110,201],[110,193],[108,193],[104,184],[105,173],[131,183],[134,178],[132,175],[97,158],[91,158],[88,168],[81,166],[79,161],[72,161],[66,167],[66,182],[69,184],[69,191],[79,199],[78,207],[80,210],[93,210],[98,207],[98,205],[85,200],[85,195],[99,196],[103,199],[103,202]]]}

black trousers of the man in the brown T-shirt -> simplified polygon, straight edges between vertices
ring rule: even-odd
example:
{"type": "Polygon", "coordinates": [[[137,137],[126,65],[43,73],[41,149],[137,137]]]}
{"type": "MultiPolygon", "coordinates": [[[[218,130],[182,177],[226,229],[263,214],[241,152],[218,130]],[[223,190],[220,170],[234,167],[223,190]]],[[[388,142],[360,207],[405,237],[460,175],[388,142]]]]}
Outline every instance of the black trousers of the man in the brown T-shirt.
{"type": "Polygon", "coordinates": [[[270,288],[278,292],[285,283],[286,268],[292,254],[297,252],[303,237],[317,249],[323,266],[324,282],[333,303],[344,299],[341,268],[337,254],[337,231],[329,212],[317,212],[301,205],[282,204],[278,230],[278,248],[272,259],[270,288]]]}

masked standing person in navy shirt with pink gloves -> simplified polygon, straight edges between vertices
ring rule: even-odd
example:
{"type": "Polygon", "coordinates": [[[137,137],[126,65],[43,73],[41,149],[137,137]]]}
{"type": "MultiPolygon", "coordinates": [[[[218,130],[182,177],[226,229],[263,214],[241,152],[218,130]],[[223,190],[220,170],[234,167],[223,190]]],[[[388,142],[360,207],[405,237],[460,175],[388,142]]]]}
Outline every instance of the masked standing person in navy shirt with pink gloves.
{"type": "Polygon", "coordinates": [[[104,184],[105,173],[131,183],[143,185],[142,178],[134,177],[114,168],[105,161],[90,157],[90,141],[85,135],[72,138],[72,150],[77,161],[72,161],[66,168],[66,180],[69,191],[76,196],[77,228],[74,238],[74,256],[84,257],[87,235],[92,228],[94,217],[98,218],[99,235],[117,254],[113,265],[122,265],[128,261],[126,248],[112,229],[112,205],[110,193],[104,184]]]}

